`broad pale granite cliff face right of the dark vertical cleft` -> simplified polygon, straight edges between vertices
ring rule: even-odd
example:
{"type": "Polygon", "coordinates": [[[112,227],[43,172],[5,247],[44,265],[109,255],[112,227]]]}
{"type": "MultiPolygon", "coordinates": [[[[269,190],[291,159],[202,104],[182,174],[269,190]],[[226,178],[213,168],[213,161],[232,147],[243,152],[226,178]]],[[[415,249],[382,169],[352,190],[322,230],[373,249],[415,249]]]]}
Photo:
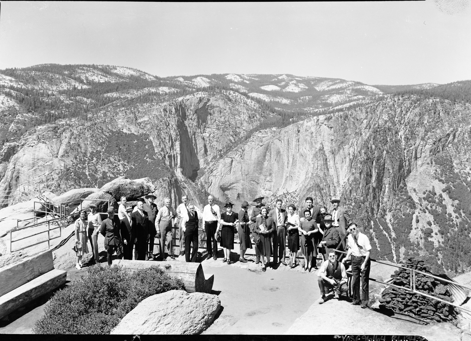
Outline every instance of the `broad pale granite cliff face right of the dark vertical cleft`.
{"type": "Polygon", "coordinates": [[[440,215],[453,228],[462,224],[469,238],[470,114],[469,104],[391,97],[259,131],[209,165],[201,182],[222,201],[262,194],[301,208],[312,196],[330,209],[330,198],[339,196],[374,239],[375,257],[400,261],[429,249],[440,260],[447,240],[440,215]],[[450,191],[441,191],[452,180],[440,182],[440,172],[455,174],[450,191]],[[439,201],[424,203],[427,193],[439,201]],[[460,200],[467,204],[457,213],[460,200]]]}

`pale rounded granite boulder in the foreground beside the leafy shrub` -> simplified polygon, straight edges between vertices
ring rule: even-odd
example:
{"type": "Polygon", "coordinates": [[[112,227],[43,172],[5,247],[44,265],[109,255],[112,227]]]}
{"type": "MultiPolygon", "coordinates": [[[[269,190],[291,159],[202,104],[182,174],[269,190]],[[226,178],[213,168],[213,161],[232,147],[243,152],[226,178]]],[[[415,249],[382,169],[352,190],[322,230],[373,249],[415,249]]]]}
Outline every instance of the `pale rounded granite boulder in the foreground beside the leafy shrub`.
{"type": "Polygon", "coordinates": [[[199,334],[210,326],[220,306],[216,295],[167,291],[140,302],[111,334],[199,334]]]}

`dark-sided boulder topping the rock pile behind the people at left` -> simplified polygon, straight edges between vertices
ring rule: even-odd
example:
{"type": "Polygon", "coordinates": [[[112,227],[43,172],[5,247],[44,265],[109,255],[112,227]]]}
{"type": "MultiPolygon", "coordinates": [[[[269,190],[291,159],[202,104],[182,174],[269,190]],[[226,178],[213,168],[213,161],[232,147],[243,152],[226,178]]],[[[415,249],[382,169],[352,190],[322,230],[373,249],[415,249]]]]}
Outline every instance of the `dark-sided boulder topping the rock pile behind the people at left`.
{"type": "Polygon", "coordinates": [[[122,196],[131,201],[154,192],[155,186],[150,178],[131,180],[126,176],[120,176],[103,185],[100,191],[111,194],[116,201],[121,200],[122,196]]]}

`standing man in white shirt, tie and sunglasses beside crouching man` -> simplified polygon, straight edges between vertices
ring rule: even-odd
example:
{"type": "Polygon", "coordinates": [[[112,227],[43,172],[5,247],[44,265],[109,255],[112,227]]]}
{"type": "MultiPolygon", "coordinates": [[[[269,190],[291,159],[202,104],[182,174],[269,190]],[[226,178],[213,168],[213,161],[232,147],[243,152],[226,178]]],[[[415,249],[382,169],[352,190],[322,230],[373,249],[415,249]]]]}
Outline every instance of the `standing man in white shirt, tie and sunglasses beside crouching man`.
{"type": "Polygon", "coordinates": [[[370,250],[371,244],[365,234],[358,231],[357,225],[351,223],[349,225],[349,236],[347,237],[349,250],[347,256],[342,259],[348,259],[352,255],[352,286],[353,286],[353,305],[360,304],[360,277],[361,292],[363,299],[361,300],[361,308],[368,308],[369,300],[369,276],[370,276],[370,250]]]}

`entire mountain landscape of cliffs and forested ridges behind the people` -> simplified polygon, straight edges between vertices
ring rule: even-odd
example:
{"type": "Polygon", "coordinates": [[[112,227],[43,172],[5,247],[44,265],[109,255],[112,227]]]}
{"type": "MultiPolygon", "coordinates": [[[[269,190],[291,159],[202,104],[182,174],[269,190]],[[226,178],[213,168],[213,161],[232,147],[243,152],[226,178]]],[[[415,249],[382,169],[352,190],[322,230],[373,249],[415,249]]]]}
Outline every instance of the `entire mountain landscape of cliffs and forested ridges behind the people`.
{"type": "Polygon", "coordinates": [[[310,195],[330,209],[338,195],[374,257],[415,252],[459,273],[471,266],[470,84],[0,70],[0,191],[29,178],[60,194],[128,175],[149,176],[173,204],[187,192],[202,206],[211,192],[302,208],[310,195]]]}

